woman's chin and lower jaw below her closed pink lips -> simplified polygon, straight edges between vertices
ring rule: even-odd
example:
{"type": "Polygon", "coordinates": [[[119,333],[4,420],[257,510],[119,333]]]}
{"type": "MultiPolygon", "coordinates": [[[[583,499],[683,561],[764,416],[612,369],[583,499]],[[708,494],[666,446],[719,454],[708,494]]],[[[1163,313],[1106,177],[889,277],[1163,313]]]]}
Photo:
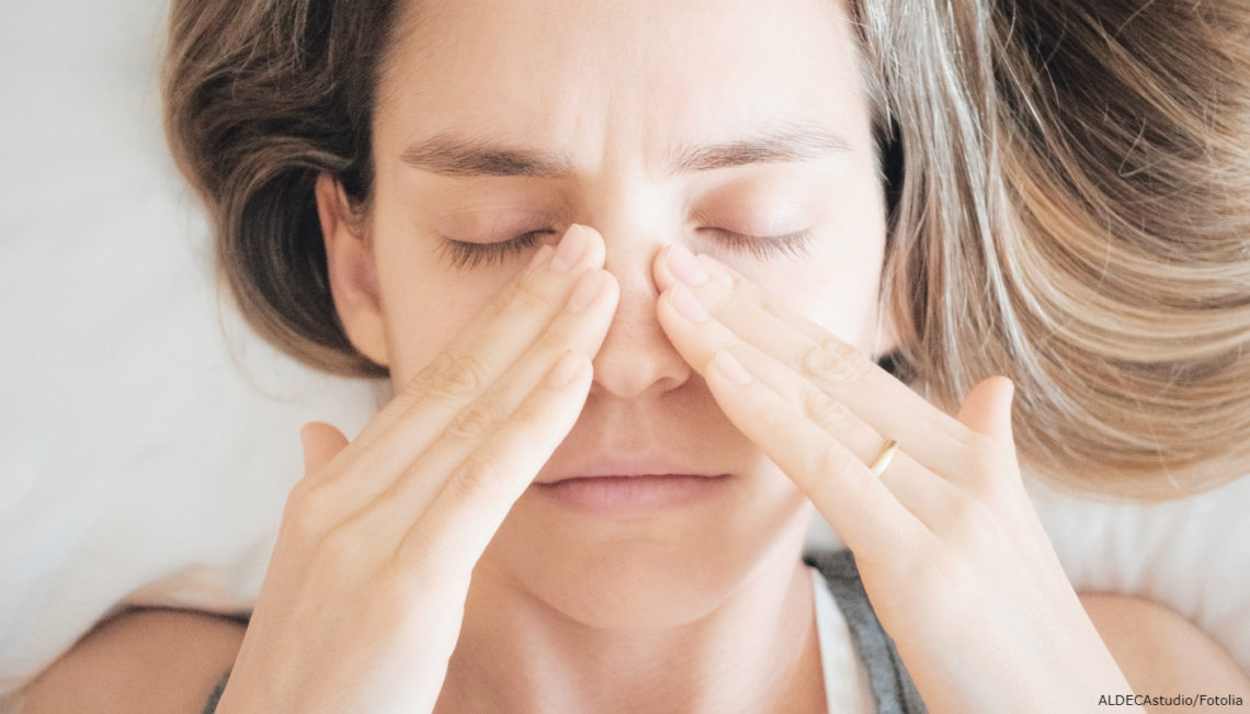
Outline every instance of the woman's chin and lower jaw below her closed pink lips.
{"type": "Polygon", "coordinates": [[[686,625],[752,575],[794,568],[811,505],[789,480],[774,485],[631,519],[561,513],[526,494],[482,554],[479,573],[589,628],[686,625]]]}

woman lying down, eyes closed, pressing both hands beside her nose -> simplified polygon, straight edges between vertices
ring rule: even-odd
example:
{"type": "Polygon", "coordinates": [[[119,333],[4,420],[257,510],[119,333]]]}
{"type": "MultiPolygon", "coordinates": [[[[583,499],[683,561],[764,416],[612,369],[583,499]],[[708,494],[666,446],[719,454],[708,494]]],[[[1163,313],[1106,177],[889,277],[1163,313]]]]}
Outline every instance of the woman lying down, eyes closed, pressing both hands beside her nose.
{"type": "Polygon", "coordinates": [[[219,711],[1248,695],[1175,614],[1079,598],[1021,488],[1250,464],[1191,435],[1246,424],[1250,8],[1098,11],[175,4],[231,293],[396,398],[305,426],[245,634],[139,614],[58,666],[182,708],[232,668],[219,711]],[[801,560],[812,509],[854,560],[801,560]]]}

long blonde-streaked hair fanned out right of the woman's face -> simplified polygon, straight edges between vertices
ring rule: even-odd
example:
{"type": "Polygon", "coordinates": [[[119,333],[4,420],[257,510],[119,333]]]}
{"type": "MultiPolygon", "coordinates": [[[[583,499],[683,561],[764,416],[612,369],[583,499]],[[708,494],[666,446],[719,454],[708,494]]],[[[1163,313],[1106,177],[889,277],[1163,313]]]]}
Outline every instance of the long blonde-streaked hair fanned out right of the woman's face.
{"type": "Polygon", "coordinates": [[[1250,474],[1250,5],[858,10],[902,151],[906,371],[949,410],[1010,376],[1021,460],[1078,489],[1250,474]]]}

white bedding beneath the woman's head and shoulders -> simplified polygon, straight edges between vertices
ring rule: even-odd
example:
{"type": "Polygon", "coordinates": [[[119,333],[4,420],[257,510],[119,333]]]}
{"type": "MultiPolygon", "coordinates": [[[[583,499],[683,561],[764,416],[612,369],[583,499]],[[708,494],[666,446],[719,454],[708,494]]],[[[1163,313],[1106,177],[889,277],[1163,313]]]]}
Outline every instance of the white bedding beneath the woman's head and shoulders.
{"type": "MultiPolygon", "coordinates": [[[[160,133],[162,6],[0,9],[0,698],[122,603],[245,609],[299,426],[354,435],[379,399],[219,324],[160,133]]],[[[1152,506],[1031,493],[1078,588],[1165,603],[1250,670],[1250,479],[1152,506]]]]}

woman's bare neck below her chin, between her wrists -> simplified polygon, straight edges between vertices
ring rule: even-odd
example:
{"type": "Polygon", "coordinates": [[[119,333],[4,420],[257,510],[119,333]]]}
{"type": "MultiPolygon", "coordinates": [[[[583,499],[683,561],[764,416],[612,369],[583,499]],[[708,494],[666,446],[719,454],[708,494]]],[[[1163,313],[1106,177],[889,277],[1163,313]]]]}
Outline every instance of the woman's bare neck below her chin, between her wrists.
{"type": "Polygon", "coordinates": [[[701,618],[628,631],[475,573],[436,711],[822,711],[811,576],[775,560],[701,618]]]}

